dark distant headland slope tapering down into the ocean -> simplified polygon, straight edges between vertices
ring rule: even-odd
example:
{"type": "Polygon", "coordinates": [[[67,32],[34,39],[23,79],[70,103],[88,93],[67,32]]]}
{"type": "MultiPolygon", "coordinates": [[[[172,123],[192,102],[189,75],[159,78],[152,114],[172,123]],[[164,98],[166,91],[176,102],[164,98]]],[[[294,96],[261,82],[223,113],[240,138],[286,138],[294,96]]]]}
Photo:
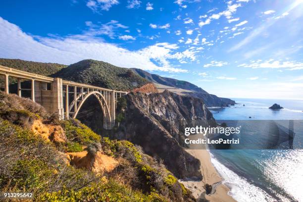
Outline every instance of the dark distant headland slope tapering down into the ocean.
{"type": "Polygon", "coordinates": [[[206,104],[207,107],[212,106],[229,106],[234,105],[236,102],[228,98],[219,98],[215,95],[199,93],[199,92],[183,92],[188,96],[200,98],[206,104]]]}

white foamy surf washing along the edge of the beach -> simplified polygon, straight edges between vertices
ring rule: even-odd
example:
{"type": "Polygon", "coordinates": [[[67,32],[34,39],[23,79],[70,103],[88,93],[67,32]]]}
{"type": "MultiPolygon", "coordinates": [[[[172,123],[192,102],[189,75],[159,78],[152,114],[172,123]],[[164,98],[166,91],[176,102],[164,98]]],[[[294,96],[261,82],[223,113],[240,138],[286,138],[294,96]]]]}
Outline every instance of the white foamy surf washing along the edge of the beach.
{"type": "MultiPolygon", "coordinates": [[[[210,152],[209,152],[210,153],[210,152]]],[[[228,194],[232,196],[237,202],[274,202],[266,192],[260,188],[250,184],[245,178],[240,177],[232,170],[228,169],[220,163],[210,153],[211,163],[222,176],[223,184],[230,188],[228,194]]]]}

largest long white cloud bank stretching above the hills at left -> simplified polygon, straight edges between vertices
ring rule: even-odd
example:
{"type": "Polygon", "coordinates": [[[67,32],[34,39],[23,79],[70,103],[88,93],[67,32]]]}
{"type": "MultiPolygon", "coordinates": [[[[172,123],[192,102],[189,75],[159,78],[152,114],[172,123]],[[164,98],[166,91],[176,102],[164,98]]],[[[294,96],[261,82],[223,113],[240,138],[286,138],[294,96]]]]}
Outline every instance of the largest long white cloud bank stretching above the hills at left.
{"type": "MultiPolygon", "coordinates": [[[[117,45],[105,43],[100,38],[86,35],[66,37],[32,37],[0,17],[0,57],[19,58],[38,62],[72,64],[83,59],[96,59],[121,67],[142,68],[145,70],[187,72],[175,68],[170,60],[178,47],[174,44],[161,43],[141,50],[131,51],[117,45]],[[119,58],[117,60],[117,58],[119,58]],[[152,61],[159,61],[158,64],[152,61]]],[[[183,60],[192,60],[192,55],[182,54],[183,60]]]]}

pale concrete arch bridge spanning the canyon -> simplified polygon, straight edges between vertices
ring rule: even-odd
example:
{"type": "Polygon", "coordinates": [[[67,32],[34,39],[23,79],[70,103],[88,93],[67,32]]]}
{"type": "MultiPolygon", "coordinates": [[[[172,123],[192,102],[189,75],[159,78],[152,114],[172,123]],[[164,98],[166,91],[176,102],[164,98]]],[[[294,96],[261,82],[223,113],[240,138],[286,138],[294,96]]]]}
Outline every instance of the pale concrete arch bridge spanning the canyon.
{"type": "Polygon", "coordinates": [[[104,129],[114,126],[117,98],[127,94],[124,91],[65,81],[1,65],[0,76],[4,76],[5,93],[10,93],[9,78],[15,78],[18,96],[22,97],[22,92],[30,91],[32,101],[41,104],[50,113],[57,113],[61,119],[76,118],[83,103],[90,96],[95,96],[103,112],[104,129]],[[21,88],[21,81],[24,80],[31,82],[31,88],[21,88]]]}

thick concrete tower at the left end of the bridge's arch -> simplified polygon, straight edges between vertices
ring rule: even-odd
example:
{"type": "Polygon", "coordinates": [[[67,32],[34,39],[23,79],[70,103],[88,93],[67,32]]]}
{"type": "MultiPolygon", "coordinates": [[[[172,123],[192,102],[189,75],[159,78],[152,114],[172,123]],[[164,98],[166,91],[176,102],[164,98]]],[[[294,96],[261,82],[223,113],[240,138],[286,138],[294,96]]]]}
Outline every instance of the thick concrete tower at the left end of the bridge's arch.
{"type": "Polygon", "coordinates": [[[54,78],[51,83],[51,112],[57,113],[60,119],[64,119],[64,108],[63,108],[63,87],[62,79],[54,78]]]}

